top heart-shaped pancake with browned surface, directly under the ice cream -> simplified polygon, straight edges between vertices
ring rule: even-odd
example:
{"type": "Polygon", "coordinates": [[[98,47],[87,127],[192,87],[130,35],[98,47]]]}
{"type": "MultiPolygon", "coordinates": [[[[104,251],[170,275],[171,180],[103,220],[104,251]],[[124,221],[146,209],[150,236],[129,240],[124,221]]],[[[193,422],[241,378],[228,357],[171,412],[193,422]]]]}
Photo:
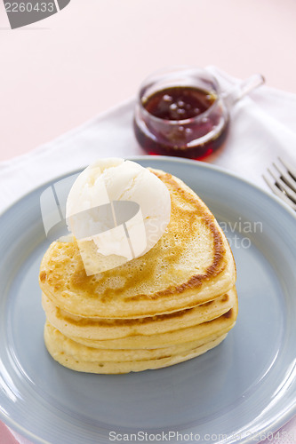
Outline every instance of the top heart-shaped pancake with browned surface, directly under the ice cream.
{"type": "Polygon", "coordinates": [[[171,195],[171,220],[144,256],[87,276],[77,243],[53,242],[39,282],[65,312],[100,319],[134,319],[179,312],[220,297],[236,281],[228,241],[204,202],[179,178],[152,170],[171,195]]]}

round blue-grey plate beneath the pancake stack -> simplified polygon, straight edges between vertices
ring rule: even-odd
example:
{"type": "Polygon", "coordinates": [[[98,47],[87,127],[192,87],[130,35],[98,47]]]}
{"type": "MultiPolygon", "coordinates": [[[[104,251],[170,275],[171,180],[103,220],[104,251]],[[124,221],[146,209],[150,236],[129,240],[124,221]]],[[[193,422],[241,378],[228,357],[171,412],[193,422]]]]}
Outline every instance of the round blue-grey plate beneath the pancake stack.
{"type": "Polygon", "coordinates": [[[52,206],[52,182],[0,218],[0,417],[36,443],[271,438],[296,413],[295,214],[212,165],[137,161],[183,179],[220,221],[236,258],[236,327],[212,351],[167,369],[89,375],[53,361],[44,347],[37,278],[76,176],[59,178],[54,190],[61,210],[52,206]],[[44,223],[53,226],[49,238],[44,223]]]}

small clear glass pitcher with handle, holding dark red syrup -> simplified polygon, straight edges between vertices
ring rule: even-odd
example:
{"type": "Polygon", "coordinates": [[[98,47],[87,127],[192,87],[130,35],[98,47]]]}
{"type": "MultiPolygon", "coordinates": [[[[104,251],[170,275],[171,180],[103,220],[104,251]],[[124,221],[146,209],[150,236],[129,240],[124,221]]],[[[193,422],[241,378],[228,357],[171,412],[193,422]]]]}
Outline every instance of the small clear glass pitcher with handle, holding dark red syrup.
{"type": "Polygon", "coordinates": [[[205,69],[175,67],[150,75],[140,86],[134,131],[150,155],[202,159],[220,148],[228,134],[229,107],[262,76],[227,94],[205,69]]]}

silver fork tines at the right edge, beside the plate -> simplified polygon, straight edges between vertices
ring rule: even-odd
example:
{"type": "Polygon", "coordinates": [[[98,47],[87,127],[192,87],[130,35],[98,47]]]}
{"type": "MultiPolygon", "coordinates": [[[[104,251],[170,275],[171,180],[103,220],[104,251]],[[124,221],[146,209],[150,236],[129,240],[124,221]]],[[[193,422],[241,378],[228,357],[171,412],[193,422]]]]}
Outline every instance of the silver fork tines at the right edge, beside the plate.
{"type": "Polygon", "coordinates": [[[280,157],[278,161],[272,164],[276,173],[268,168],[269,176],[263,175],[263,178],[269,188],[296,211],[296,169],[280,157]]]}

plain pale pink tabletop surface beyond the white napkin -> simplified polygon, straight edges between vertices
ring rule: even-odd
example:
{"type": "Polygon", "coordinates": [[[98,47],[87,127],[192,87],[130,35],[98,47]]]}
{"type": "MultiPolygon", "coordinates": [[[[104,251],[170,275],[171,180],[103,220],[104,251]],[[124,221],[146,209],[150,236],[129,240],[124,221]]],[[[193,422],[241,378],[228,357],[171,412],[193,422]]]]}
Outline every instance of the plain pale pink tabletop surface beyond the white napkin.
{"type": "MultiPolygon", "coordinates": [[[[12,31],[0,1],[0,161],[131,97],[161,67],[260,72],[296,92],[295,17],[295,0],[72,0],[12,31]]],[[[0,423],[0,444],[15,442],[6,433],[0,423]]]]}

